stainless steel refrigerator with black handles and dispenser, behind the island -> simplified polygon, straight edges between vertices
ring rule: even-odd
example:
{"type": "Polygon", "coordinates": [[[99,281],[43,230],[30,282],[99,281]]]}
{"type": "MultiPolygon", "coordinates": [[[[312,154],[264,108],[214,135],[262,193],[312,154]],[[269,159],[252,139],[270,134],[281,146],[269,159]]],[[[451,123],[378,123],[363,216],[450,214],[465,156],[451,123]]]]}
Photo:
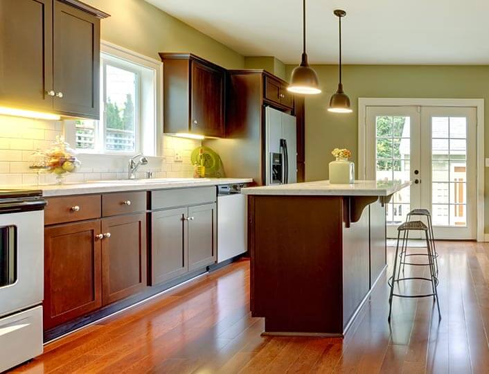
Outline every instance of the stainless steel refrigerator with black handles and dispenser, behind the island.
{"type": "Polygon", "coordinates": [[[296,117],[265,107],[265,184],[296,181],[296,117]]]}

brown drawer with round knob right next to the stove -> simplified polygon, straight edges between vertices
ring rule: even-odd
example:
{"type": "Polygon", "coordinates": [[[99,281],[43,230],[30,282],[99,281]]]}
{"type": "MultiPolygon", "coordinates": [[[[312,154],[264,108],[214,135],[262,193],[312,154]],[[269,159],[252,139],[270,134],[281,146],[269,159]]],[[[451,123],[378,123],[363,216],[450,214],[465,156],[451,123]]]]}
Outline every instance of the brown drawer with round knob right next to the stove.
{"type": "Polygon", "coordinates": [[[100,195],[49,197],[44,224],[91,220],[100,217],[100,195]]]}

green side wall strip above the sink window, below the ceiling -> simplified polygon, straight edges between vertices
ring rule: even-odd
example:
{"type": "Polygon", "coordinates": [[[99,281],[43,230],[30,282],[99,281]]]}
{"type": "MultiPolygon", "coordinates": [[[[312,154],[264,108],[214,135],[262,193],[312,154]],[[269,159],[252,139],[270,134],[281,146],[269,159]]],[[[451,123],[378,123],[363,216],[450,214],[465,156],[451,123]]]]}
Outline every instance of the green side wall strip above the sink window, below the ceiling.
{"type": "Polygon", "coordinates": [[[227,69],[245,67],[245,57],[143,0],[84,0],[112,17],[102,21],[102,39],[159,60],[158,52],[191,52],[227,69]]]}

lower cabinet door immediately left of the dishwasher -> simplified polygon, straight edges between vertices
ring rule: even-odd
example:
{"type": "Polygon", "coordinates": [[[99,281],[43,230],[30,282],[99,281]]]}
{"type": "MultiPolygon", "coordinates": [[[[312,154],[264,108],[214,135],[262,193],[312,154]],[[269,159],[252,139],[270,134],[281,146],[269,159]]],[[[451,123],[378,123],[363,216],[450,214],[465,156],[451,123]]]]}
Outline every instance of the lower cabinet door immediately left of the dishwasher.
{"type": "Polygon", "coordinates": [[[188,270],[211,265],[216,260],[215,204],[188,208],[188,270]]]}

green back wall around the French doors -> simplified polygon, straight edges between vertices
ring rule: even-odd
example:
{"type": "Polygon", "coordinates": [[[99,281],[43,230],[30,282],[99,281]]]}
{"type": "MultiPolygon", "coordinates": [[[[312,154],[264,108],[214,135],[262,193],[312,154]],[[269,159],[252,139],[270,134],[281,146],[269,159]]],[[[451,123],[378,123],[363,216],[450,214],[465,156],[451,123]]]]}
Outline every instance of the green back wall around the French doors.
{"type": "MultiPolygon", "coordinates": [[[[294,66],[287,65],[287,76],[294,66]]],[[[344,90],[352,114],[327,112],[329,98],[337,89],[337,66],[317,65],[323,93],[305,100],[305,179],[328,179],[331,150],[349,148],[357,161],[358,98],[483,98],[485,99],[485,154],[489,155],[489,66],[344,66],[344,90]]],[[[489,172],[485,195],[489,196],[489,172]]],[[[485,203],[489,233],[489,199],[485,203]]]]}

